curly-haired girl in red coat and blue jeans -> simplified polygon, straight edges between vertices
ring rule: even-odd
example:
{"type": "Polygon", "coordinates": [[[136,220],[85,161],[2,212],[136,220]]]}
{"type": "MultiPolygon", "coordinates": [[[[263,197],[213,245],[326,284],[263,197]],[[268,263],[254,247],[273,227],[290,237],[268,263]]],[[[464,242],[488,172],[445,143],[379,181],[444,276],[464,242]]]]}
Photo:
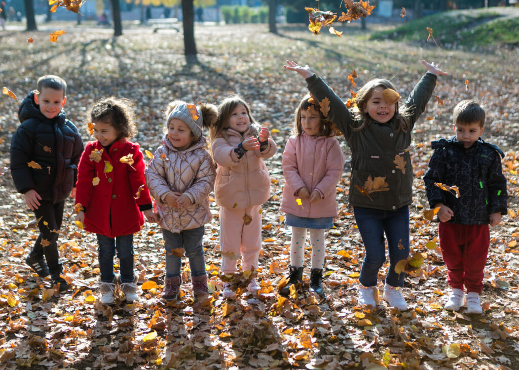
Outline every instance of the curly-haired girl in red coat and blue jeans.
{"type": "Polygon", "coordinates": [[[144,161],[139,144],[128,139],[136,132],[134,114],[128,99],[108,97],[88,111],[93,136],[78,166],[76,221],[97,234],[101,303],[114,303],[117,278],[114,255],[120,266],[120,289],[126,302],[138,299],[133,275],[133,233],[144,224],[156,222],[144,178],[144,161]]]}

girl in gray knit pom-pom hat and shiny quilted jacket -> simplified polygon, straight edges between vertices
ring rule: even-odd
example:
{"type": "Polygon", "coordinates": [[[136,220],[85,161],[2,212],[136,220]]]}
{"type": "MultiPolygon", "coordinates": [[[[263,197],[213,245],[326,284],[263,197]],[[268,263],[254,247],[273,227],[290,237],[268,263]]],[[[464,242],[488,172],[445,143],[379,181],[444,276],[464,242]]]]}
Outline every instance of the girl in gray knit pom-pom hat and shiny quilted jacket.
{"type": "Polygon", "coordinates": [[[211,221],[209,193],[216,176],[204,149],[202,127],[213,124],[218,111],[212,104],[170,103],[165,135],[145,171],[146,184],[157,202],[166,249],[166,277],[162,297],[176,300],[180,292],[181,257],[189,259],[194,301],[209,297],[202,248],[204,224],[211,221]]]}

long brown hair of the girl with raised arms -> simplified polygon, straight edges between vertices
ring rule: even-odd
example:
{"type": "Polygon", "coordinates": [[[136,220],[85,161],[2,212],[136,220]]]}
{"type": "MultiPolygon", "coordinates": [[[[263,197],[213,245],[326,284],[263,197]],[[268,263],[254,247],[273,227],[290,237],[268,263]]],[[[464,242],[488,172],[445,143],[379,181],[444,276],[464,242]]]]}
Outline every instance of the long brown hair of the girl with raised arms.
{"type": "MultiPolygon", "coordinates": [[[[395,90],[395,87],[391,82],[383,78],[376,78],[370,80],[364,84],[363,87],[357,92],[356,104],[359,108],[357,121],[359,125],[356,127],[351,127],[353,131],[360,131],[364,129],[364,127],[368,126],[371,122],[374,122],[373,118],[368,115],[368,113],[364,112],[364,109],[367,106],[367,102],[370,100],[373,91],[377,88],[380,88],[382,91],[386,89],[395,90]]],[[[406,132],[409,129],[409,116],[411,116],[411,112],[407,108],[407,106],[403,106],[402,109],[399,109],[399,102],[395,103],[394,107],[394,116],[391,118],[391,121],[397,122],[398,130],[401,132],[406,132]]]]}

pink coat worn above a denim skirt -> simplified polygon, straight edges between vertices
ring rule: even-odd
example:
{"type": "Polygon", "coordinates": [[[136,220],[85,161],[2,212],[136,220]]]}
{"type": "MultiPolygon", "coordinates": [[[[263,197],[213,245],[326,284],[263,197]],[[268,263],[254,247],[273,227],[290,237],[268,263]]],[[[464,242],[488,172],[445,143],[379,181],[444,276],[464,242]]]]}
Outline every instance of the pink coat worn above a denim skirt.
{"type": "Polygon", "coordinates": [[[291,136],[283,152],[285,186],[281,211],[298,217],[337,216],[337,182],[343,175],[344,155],[334,137],[310,136],[303,132],[291,136]],[[321,200],[310,203],[302,199],[298,205],[295,195],[306,187],[311,193],[319,191],[321,200]]]}

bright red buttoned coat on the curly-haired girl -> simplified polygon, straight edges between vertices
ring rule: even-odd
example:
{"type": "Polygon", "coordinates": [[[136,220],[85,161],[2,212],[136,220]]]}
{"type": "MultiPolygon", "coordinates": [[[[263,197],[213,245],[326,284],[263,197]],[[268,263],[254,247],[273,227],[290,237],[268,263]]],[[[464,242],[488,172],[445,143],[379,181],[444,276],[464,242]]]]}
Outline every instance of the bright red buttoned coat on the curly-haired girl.
{"type": "Polygon", "coordinates": [[[144,161],[139,144],[126,139],[117,140],[107,150],[99,141],[90,141],[81,155],[77,174],[76,204],[81,203],[85,210],[85,230],[114,238],[129,235],[141,230],[144,217],[139,206],[152,203],[144,178],[144,161]],[[97,149],[103,152],[101,160],[90,159],[97,149]],[[133,154],[130,167],[119,159],[133,154]],[[110,172],[104,172],[106,162],[113,166],[110,172]],[[92,180],[98,177],[99,184],[92,180]],[[144,185],[141,195],[135,200],[139,187],[144,185]]]}

